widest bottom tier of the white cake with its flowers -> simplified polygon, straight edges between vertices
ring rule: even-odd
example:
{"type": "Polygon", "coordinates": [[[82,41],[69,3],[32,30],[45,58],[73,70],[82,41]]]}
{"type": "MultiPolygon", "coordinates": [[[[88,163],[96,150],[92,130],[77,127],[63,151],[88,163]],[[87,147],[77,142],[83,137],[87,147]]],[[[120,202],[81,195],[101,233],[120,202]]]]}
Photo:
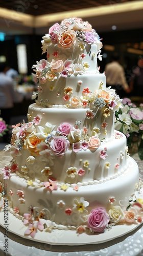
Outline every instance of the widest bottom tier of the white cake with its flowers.
{"type": "Polygon", "coordinates": [[[3,200],[9,202],[10,212],[27,225],[25,236],[33,238],[37,232],[54,229],[96,234],[121,222],[139,223],[138,166],[131,157],[128,164],[126,171],[113,180],[79,187],[54,187],[51,181],[49,189],[43,183],[30,184],[13,173],[5,181],[3,200]]]}

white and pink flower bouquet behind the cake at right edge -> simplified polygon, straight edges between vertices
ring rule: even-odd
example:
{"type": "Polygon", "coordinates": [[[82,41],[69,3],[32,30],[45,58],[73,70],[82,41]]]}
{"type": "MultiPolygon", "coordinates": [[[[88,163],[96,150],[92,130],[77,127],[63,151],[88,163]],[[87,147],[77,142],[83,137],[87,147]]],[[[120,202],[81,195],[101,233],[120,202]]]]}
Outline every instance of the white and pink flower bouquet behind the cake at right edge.
{"type": "Polygon", "coordinates": [[[143,160],[143,104],[136,106],[129,98],[124,98],[122,107],[115,112],[115,129],[127,137],[129,148],[135,142],[138,156],[143,160]]]}

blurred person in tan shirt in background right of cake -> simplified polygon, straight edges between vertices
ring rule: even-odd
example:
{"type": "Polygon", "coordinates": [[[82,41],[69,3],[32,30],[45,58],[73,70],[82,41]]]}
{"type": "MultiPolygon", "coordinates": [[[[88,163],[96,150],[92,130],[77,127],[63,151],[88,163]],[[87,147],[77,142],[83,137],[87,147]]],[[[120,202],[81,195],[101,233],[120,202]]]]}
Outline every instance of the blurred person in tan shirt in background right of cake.
{"type": "Polygon", "coordinates": [[[111,86],[115,89],[116,94],[120,98],[124,98],[126,93],[130,93],[130,88],[126,81],[125,72],[119,63],[119,56],[117,53],[112,55],[112,61],[105,66],[106,87],[111,86]]]}

